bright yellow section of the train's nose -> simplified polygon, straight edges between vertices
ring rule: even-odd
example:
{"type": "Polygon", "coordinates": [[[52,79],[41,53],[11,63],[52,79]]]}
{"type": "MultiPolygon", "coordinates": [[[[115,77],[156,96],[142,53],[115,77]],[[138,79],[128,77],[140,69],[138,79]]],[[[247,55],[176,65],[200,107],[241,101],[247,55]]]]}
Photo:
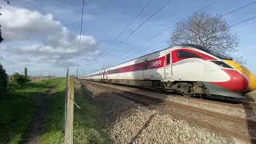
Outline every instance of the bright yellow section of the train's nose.
{"type": "Polygon", "coordinates": [[[256,77],[253,73],[250,72],[250,70],[246,69],[246,67],[241,66],[240,64],[234,61],[225,60],[225,62],[233,66],[235,70],[238,70],[242,75],[244,75],[247,78],[249,83],[246,90],[244,90],[243,92],[248,93],[250,91],[256,90],[256,77]]]}

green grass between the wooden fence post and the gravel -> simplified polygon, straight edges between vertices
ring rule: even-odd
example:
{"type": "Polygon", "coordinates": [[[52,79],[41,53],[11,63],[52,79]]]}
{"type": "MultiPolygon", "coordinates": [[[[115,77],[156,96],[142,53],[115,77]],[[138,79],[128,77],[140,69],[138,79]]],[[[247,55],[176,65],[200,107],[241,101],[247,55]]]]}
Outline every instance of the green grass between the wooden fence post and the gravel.
{"type": "Polygon", "coordinates": [[[82,94],[80,82],[75,84],[75,101],[81,109],[74,109],[74,143],[112,143],[101,119],[98,106],[92,106],[82,94]]]}

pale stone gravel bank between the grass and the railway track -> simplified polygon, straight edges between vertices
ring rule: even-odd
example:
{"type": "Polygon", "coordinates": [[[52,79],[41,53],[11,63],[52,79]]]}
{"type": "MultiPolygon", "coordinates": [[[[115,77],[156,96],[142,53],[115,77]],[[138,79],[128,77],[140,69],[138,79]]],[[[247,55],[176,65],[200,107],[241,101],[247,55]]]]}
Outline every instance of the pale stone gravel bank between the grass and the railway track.
{"type": "Polygon", "coordinates": [[[86,82],[82,87],[83,94],[102,110],[114,143],[246,143],[160,114],[86,82]]]}

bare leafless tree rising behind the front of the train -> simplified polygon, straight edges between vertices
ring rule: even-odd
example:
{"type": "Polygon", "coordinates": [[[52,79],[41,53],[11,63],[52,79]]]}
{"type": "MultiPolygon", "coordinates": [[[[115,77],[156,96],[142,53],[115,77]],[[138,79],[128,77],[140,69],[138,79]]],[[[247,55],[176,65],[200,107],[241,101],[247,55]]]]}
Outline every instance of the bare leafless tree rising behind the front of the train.
{"type": "Polygon", "coordinates": [[[170,46],[190,43],[206,46],[218,54],[244,63],[242,57],[234,56],[238,51],[238,34],[232,34],[226,19],[220,15],[197,13],[186,21],[179,22],[170,33],[170,46]]]}

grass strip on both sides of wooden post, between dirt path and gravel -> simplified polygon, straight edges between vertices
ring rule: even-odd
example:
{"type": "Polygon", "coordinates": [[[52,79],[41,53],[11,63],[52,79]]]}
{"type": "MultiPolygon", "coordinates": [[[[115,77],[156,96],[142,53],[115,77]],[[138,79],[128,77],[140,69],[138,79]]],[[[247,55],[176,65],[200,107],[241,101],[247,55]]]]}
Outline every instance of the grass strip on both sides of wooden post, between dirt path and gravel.
{"type": "MultiPolygon", "coordinates": [[[[50,114],[44,122],[40,143],[64,142],[64,94],[65,82],[60,82],[50,100],[50,114]]],[[[74,106],[74,143],[111,143],[106,126],[100,122],[98,106],[92,106],[81,92],[79,82],[75,84],[74,100],[81,107],[74,106]]]]}

